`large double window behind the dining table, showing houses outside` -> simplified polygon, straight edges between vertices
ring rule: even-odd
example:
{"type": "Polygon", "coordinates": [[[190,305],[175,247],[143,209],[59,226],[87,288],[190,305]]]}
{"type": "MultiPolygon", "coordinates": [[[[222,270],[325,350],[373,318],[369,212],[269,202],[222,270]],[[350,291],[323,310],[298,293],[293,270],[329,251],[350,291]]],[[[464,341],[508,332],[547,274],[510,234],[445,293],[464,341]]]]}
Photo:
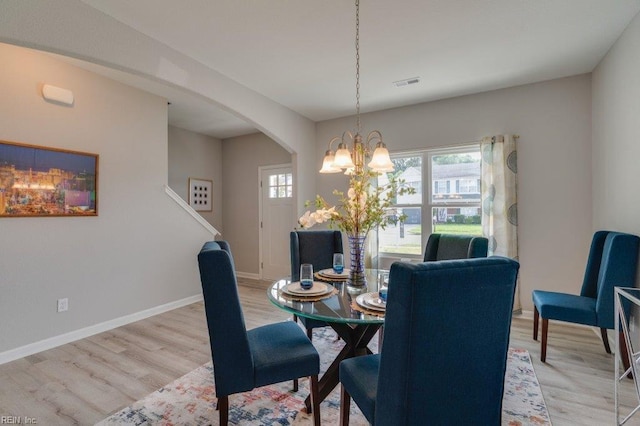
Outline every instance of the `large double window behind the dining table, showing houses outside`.
{"type": "Polygon", "coordinates": [[[479,145],[392,154],[391,159],[394,175],[416,193],[398,197],[390,209],[390,215],[406,218],[379,230],[381,255],[422,258],[435,232],[482,234],[479,145]]]}

